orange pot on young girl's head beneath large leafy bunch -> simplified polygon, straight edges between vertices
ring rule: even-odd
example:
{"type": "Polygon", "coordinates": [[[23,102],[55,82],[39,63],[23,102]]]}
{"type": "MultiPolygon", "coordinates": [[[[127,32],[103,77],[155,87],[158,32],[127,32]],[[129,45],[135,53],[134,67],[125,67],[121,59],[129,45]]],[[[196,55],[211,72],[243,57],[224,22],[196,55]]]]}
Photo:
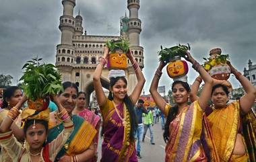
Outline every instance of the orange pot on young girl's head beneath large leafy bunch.
{"type": "Polygon", "coordinates": [[[32,101],[31,99],[28,99],[28,108],[34,109],[37,112],[40,112],[42,110],[46,110],[49,106],[50,100],[49,99],[36,99],[36,101],[32,101]]]}

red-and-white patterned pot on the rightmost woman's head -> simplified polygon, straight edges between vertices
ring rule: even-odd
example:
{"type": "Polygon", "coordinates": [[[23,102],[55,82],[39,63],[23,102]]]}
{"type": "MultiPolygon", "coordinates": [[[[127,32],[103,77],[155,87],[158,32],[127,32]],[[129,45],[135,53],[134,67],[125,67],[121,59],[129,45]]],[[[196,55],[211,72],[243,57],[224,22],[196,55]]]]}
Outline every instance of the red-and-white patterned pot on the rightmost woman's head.
{"type": "Polygon", "coordinates": [[[230,77],[230,67],[227,64],[215,65],[208,73],[218,80],[228,80],[230,77]]]}

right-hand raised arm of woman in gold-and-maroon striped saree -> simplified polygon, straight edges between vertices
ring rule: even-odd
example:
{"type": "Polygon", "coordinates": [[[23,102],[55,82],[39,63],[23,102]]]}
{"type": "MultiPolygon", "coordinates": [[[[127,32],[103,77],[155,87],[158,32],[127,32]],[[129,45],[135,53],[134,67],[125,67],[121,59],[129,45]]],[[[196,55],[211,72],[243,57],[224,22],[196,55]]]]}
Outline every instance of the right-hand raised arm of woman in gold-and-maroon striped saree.
{"type": "Polygon", "coordinates": [[[199,73],[201,78],[203,79],[205,85],[203,86],[203,89],[201,91],[201,95],[199,96],[198,103],[201,109],[204,111],[207,107],[207,102],[211,97],[211,91],[212,91],[212,85],[214,83],[214,80],[212,77],[203,69],[199,63],[191,56],[190,52],[186,52],[186,60],[188,60],[190,63],[192,63],[192,67],[199,73]]]}

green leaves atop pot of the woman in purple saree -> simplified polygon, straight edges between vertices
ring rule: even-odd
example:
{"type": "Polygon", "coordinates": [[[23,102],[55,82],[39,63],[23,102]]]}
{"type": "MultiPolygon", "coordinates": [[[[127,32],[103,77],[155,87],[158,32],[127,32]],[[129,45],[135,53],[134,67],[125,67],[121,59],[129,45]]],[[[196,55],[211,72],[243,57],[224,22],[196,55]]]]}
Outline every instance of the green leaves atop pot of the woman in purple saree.
{"type": "Polygon", "coordinates": [[[110,53],[115,53],[115,50],[123,50],[123,52],[126,54],[129,50],[129,42],[124,39],[108,40],[106,41],[106,46],[110,50],[110,53]]]}

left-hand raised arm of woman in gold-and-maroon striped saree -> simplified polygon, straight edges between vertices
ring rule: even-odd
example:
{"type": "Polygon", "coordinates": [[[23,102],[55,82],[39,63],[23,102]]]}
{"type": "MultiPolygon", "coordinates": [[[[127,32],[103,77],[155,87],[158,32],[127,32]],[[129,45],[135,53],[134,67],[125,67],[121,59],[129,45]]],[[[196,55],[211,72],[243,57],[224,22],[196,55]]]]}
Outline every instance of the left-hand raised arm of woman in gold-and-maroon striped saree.
{"type": "Polygon", "coordinates": [[[162,75],[162,69],[164,68],[164,66],[165,66],[165,64],[161,60],[159,66],[158,66],[158,69],[156,70],[156,73],[153,77],[152,83],[150,85],[150,93],[151,93],[154,101],[156,102],[156,105],[162,112],[164,112],[166,102],[164,101],[162,96],[158,93],[157,87],[158,87],[159,79],[162,75]]]}

